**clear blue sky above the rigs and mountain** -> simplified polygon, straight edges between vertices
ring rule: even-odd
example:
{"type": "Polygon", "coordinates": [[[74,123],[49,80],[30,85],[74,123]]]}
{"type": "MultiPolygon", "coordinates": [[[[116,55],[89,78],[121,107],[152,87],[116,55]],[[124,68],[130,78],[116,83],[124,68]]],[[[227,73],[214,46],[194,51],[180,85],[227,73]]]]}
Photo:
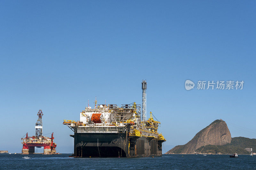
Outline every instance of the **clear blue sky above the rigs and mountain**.
{"type": "MultiPolygon", "coordinates": [[[[63,119],[98,103],[141,104],[161,122],[163,152],[216,119],[256,138],[256,1],[0,1],[0,150],[54,132],[72,153],[63,119]],[[242,90],[187,91],[185,81],[239,80],[242,90]]],[[[50,136],[50,134],[46,135],[50,136]]]]}

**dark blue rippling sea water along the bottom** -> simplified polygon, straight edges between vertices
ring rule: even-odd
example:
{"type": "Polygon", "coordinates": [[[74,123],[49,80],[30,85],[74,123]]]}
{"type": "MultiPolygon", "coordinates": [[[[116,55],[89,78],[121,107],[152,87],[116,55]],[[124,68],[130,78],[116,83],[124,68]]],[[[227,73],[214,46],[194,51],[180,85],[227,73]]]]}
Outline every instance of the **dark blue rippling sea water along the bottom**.
{"type": "Polygon", "coordinates": [[[70,154],[0,154],[0,169],[256,169],[256,155],[180,155],[144,158],[70,158],[70,154]]]}

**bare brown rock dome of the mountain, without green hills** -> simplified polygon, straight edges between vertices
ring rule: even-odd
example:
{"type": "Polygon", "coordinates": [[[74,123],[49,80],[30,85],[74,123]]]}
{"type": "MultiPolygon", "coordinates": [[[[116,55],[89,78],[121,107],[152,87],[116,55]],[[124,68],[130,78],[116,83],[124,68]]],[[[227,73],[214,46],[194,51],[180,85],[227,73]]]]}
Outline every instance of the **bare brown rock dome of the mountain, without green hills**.
{"type": "Polygon", "coordinates": [[[215,120],[209,126],[198,132],[187,144],[178,145],[166,154],[194,153],[196,149],[206,145],[225,145],[231,143],[231,134],[223,120],[215,120]]]}

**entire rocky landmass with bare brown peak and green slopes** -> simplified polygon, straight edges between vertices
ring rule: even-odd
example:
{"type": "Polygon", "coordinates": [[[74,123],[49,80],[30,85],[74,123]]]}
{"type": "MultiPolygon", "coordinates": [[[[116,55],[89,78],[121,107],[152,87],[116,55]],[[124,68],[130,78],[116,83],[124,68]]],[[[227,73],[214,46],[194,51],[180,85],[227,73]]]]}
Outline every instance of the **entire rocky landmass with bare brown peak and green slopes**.
{"type": "Polygon", "coordinates": [[[256,139],[232,137],[223,120],[215,120],[198,132],[187,144],[178,145],[165,154],[250,154],[245,148],[256,150],[256,139]]]}

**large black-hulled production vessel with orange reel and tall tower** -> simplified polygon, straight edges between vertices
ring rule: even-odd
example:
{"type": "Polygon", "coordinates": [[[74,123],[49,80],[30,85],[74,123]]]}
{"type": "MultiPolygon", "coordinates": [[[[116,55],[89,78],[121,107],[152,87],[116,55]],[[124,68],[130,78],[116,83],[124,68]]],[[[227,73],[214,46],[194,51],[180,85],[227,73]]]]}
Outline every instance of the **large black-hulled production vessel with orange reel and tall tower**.
{"type": "Polygon", "coordinates": [[[165,140],[157,132],[160,122],[146,120],[146,80],[142,81],[142,108],[135,102],[117,107],[114,104],[85,107],[80,121],[64,120],[74,131],[74,157],[148,157],[162,156],[165,140]]]}

